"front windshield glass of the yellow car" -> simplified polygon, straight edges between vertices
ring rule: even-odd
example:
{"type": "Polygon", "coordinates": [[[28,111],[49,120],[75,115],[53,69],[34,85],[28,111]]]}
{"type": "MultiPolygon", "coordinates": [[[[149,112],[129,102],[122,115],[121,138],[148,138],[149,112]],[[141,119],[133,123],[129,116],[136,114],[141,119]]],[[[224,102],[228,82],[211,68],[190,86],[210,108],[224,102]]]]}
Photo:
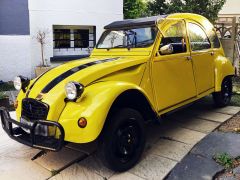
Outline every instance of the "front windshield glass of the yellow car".
{"type": "Polygon", "coordinates": [[[97,44],[98,49],[143,48],[153,44],[156,27],[141,27],[125,30],[107,30],[97,44]]]}

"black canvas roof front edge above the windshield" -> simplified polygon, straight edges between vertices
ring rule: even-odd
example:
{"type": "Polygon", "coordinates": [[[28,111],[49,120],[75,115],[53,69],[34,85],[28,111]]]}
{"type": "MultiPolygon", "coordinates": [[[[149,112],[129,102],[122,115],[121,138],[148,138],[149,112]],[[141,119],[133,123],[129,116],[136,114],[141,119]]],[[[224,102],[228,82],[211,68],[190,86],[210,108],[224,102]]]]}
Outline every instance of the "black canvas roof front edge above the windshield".
{"type": "Polygon", "coordinates": [[[119,29],[127,27],[136,27],[144,25],[155,25],[158,19],[166,18],[167,15],[151,16],[138,19],[126,19],[122,21],[112,22],[104,27],[104,29],[119,29]]]}

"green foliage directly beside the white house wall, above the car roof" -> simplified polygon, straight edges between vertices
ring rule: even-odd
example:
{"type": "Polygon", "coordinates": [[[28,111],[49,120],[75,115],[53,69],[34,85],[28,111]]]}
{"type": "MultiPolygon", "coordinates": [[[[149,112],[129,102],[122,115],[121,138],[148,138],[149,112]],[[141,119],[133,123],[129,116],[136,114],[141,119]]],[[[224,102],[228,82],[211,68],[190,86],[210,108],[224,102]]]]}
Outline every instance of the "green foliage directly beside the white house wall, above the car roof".
{"type": "Polygon", "coordinates": [[[146,16],[146,3],[142,0],[124,0],[124,19],[135,19],[146,16]]]}

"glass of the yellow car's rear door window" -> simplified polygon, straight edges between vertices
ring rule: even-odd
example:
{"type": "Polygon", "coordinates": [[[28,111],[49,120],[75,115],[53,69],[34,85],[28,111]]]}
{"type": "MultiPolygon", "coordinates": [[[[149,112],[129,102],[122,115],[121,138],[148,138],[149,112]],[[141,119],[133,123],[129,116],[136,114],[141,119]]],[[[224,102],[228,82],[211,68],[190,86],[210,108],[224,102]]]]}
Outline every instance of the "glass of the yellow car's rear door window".
{"type": "Polygon", "coordinates": [[[200,26],[194,23],[188,23],[188,31],[192,51],[211,48],[208,37],[200,26]]]}

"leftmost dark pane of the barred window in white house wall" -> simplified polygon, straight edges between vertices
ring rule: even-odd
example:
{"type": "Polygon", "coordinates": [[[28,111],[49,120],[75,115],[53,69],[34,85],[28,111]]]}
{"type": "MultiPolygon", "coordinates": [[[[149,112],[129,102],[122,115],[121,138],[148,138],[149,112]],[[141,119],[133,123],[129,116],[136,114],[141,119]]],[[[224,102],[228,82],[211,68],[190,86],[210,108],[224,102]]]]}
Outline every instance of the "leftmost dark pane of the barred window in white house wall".
{"type": "Polygon", "coordinates": [[[55,48],[70,48],[70,29],[54,30],[55,48]]]}

